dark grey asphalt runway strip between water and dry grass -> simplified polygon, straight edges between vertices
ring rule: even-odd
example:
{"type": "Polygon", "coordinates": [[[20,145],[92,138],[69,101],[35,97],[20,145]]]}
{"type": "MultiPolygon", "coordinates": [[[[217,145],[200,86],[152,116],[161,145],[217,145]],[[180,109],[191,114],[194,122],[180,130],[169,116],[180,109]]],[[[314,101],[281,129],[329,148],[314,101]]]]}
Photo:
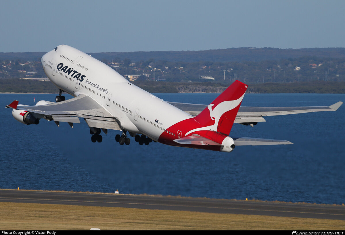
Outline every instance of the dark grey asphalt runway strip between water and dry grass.
{"type": "Polygon", "coordinates": [[[345,206],[0,189],[1,202],[126,207],[345,220],[345,206]]]}

